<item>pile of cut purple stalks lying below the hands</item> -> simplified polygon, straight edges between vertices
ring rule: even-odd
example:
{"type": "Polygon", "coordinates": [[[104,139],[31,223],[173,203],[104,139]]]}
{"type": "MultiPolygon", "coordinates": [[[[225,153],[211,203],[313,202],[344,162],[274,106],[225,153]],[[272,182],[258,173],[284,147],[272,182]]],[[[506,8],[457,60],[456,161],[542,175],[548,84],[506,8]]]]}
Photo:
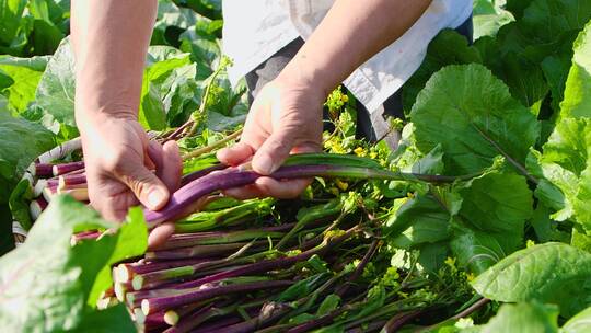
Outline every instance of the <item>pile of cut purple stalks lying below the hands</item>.
{"type": "Polygon", "coordinates": [[[194,214],[188,220],[206,214],[222,225],[173,234],[142,259],[116,265],[101,305],[124,302],[143,332],[395,331],[438,301],[418,292],[419,278],[401,274],[401,292],[383,295],[384,307],[364,313],[375,306],[367,266],[387,253],[380,254],[379,226],[362,203],[348,198],[302,207],[283,223],[273,217],[277,207],[253,213],[254,200],[194,214]],[[251,219],[223,223],[246,211],[251,219]]]}

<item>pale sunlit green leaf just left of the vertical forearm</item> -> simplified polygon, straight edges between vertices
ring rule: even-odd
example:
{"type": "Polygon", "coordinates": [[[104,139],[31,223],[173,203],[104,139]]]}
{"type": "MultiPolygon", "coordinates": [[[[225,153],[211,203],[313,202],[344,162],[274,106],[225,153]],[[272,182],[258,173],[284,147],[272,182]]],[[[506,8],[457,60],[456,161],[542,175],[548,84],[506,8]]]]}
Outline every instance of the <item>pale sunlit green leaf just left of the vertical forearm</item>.
{"type": "Polygon", "coordinates": [[[61,134],[63,139],[78,136],[74,120],[74,79],[73,50],[70,38],[65,38],[47,64],[35,94],[37,105],[48,117],[46,122],[48,124],[57,122],[66,126],[65,130],[60,126],[55,130],[56,134],[61,134]]]}

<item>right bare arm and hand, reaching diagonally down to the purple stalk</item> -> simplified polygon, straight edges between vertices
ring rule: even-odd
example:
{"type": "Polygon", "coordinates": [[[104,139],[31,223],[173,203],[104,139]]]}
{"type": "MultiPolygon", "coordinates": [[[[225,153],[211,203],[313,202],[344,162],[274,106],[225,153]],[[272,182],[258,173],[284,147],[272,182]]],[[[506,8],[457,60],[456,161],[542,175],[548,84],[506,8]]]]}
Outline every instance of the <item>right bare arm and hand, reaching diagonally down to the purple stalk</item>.
{"type": "MultiPolygon", "coordinates": [[[[254,171],[268,175],[290,152],[318,151],[322,105],[329,91],[402,36],[430,2],[336,0],[296,57],[256,96],[241,141],[221,150],[218,158],[230,165],[252,159],[254,171]]],[[[240,198],[288,198],[308,184],[306,180],[260,177],[252,186],[227,193],[240,198]]]]}

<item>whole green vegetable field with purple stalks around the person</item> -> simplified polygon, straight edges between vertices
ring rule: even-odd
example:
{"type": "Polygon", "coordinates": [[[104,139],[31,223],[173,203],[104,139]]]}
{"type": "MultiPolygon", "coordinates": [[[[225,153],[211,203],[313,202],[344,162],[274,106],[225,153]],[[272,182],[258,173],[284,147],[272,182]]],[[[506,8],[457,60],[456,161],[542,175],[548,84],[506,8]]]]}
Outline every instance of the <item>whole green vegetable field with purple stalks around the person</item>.
{"type": "Polygon", "coordinates": [[[161,0],[139,119],[183,186],[123,223],[86,205],[69,2],[0,1],[3,332],[591,332],[591,1],[475,0],[474,43],[442,31],[404,87],[396,150],[338,88],[324,152],[271,175],[305,192],[237,200],[259,175],[216,159],[248,111],[221,0],[161,0]]]}

